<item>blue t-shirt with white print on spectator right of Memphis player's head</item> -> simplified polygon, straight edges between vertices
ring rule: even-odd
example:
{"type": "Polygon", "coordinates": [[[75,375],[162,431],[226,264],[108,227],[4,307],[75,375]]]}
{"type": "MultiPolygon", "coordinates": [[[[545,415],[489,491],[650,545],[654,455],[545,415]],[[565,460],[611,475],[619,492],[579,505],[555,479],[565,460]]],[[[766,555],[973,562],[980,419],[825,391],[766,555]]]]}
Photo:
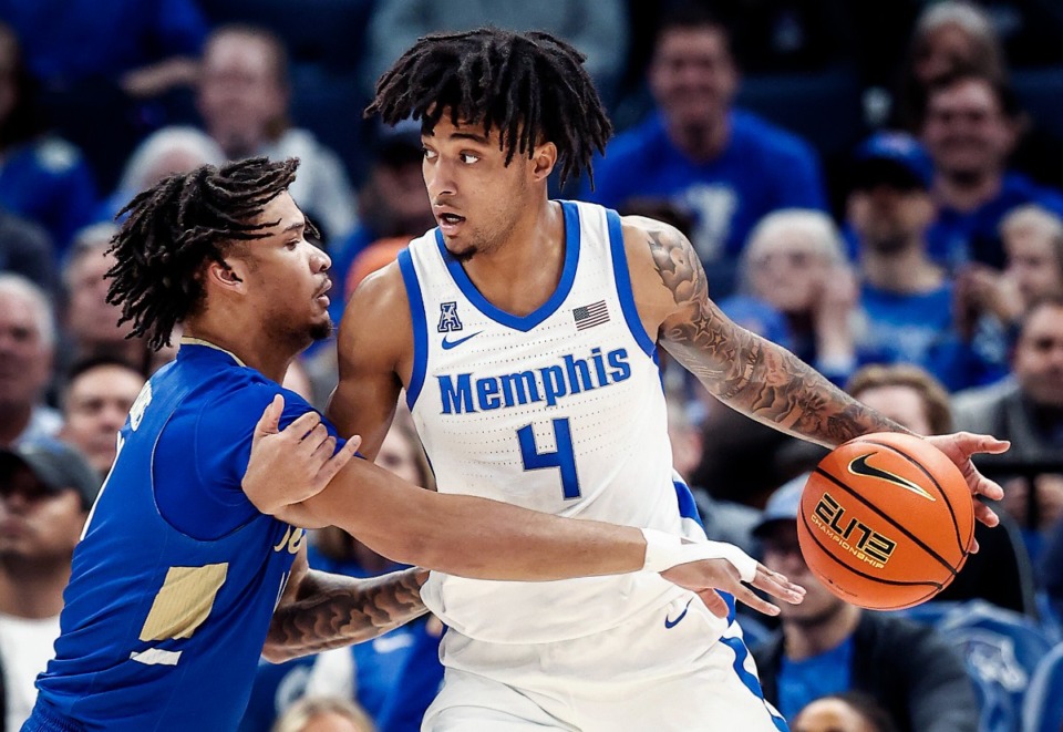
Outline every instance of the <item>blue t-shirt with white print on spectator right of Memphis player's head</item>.
{"type": "Polygon", "coordinates": [[[622,212],[636,197],[665,198],[694,217],[692,241],[703,261],[734,257],[750,230],[780,208],[826,210],[813,148],[761,117],[731,112],[731,140],[714,159],[694,163],[668,137],[660,114],[617,135],[595,159],[595,190],[580,197],[622,212]]]}

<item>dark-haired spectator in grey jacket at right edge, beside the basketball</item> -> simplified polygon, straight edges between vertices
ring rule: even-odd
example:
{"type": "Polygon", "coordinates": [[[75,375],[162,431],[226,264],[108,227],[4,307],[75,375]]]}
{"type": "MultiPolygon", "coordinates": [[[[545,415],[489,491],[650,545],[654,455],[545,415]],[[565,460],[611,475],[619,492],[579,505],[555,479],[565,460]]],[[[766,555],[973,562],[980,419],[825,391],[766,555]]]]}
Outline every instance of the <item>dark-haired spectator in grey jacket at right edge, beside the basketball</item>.
{"type": "MultiPolygon", "coordinates": [[[[1010,440],[1008,463],[1014,467],[1023,462],[1059,465],[1063,455],[1063,296],[1043,298],[1026,310],[1012,371],[1014,378],[1001,384],[957,394],[956,426],[1010,440]]],[[[1004,507],[1026,529],[1036,561],[1042,532],[1063,518],[1063,474],[1045,472],[1002,484],[1004,507]]]]}

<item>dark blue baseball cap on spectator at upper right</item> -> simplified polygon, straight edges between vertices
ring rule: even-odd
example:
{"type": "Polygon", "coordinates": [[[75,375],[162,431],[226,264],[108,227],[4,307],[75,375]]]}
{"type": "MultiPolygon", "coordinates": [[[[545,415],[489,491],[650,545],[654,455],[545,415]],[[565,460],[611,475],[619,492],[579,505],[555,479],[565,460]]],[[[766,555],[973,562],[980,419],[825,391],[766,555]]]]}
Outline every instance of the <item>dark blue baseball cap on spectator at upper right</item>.
{"type": "Polygon", "coordinates": [[[899,190],[929,190],[933,162],[915,137],[902,132],[880,132],[856,148],[854,190],[888,185],[899,190]]]}

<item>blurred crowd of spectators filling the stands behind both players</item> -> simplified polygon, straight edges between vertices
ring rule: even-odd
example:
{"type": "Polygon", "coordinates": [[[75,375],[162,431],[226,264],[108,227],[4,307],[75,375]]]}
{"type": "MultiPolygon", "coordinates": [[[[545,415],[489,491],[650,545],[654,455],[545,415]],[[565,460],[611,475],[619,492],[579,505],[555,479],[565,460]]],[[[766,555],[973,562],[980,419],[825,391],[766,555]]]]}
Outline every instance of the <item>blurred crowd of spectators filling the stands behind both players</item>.
{"type": "MultiPolygon", "coordinates": [[[[982,464],[1005,486],[1002,526],[978,528],[982,551],[929,604],[940,611],[867,612],[796,550],[794,496],[822,453],[662,360],[675,466],[709,534],[809,588],[778,628],[747,622],[768,699],[805,731],[1005,732],[1023,714],[1021,729],[1042,729],[1021,707],[1063,641],[1053,0],[0,0],[0,518],[19,528],[0,536],[4,729],[32,702],[115,432],[179,341],[151,351],[106,302],[124,206],[205,163],[299,157],[291,193],[332,257],[338,321],[358,282],[434,223],[416,123],[362,120],[375,79],[417,35],[481,24],[546,30],[587,55],[617,134],[594,181],[559,196],[675,225],[729,317],[914,431],[1012,441],[982,464]],[[976,618],[978,642],[963,635],[976,618]]],[[[331,343],[286,380],[318,405],[334,383],[331,343]]],[[[431,483],[403,420],[379,460],[431,483]]],[[[392,568],[338,530],[311,556],[358,576],[392,568]]],[[[264,662],[242,729],[415,730],[442,632],[429,618],[264,662]]]]}

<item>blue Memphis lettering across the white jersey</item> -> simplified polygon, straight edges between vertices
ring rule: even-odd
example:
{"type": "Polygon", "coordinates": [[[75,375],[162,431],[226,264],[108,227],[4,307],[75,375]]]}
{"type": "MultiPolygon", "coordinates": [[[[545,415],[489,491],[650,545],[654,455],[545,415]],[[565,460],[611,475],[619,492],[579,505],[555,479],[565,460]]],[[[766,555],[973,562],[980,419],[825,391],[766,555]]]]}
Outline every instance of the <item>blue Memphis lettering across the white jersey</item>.
{"type": "Polygon", "coordinates": [[[561,355],[557,363],[534,370],[477,379],[473,373],[440,374],[443,414],[486,412],[523,404],[558,400],[584,391],[602,389],[631,378],[628,350],[618,348],[602,353],[591,349],[588,358],[561,355]]]}

